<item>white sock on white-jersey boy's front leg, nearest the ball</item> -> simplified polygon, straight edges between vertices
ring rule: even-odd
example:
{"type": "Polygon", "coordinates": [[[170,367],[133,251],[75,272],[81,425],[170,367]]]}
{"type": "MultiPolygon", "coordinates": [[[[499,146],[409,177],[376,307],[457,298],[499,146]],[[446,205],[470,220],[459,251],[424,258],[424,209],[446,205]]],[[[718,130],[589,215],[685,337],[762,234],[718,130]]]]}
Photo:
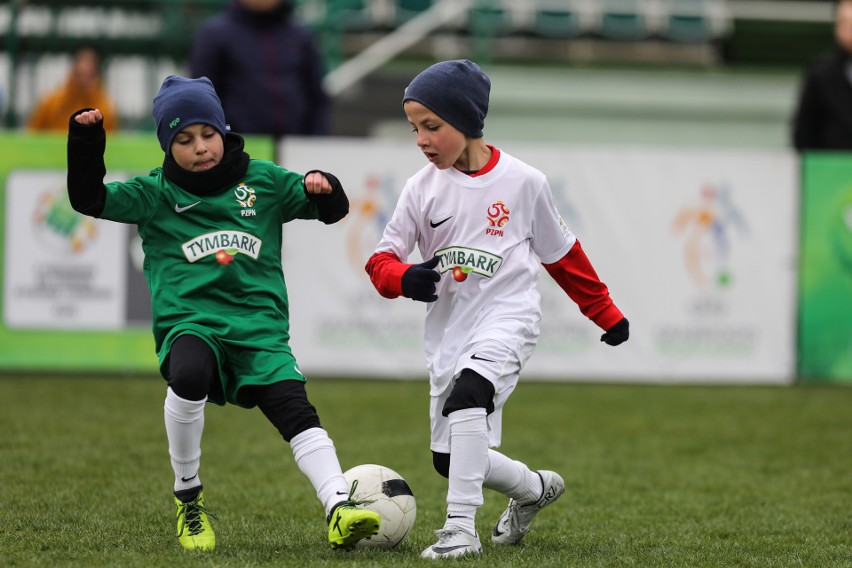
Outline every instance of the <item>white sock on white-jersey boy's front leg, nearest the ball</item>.
{"type": "Polygon", "coordinates": [[[444,527],[458,527],[476,534],[476,510],[482,506],[482,483],[488,471],[488,423],[484,408],[451,412],[450,479],[447,520],[444,527]]]}

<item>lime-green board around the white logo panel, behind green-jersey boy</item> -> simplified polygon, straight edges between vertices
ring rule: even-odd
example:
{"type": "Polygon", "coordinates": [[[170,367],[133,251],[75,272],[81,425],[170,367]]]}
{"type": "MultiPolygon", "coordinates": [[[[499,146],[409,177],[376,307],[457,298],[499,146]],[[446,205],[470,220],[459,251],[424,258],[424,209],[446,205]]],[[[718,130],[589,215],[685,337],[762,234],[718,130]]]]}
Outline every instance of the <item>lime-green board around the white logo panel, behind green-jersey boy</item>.
{"type": "MultiPolygon", "coordinates": [[[[274,159],[274,142],[247,138],[246,149],[253,158],[274,159]]],[[[10,174],[26,170],[61,174],[66,168],[66,136],[62,134],[0,134],[0,234],[4,243],[7,219],[26,214],[7,199],[10,174]]],[[[110,135],[105,154],[107,172],[144,175],[162,164],[163,152],[153,133],[110,135]]],[[[75,213],[76,214],[76,213],[75,213]]],[[[0,282],[6,282],[7,246],[0,248],[0,282]]],[[[0,308],[5,314],[0,296],[0,308]]],[[[0,322],[0,372],[63,371],[147,373],[157,371],[154,340],[149,326],[118,330],[81,330],[7,327],[0,322]]]]}

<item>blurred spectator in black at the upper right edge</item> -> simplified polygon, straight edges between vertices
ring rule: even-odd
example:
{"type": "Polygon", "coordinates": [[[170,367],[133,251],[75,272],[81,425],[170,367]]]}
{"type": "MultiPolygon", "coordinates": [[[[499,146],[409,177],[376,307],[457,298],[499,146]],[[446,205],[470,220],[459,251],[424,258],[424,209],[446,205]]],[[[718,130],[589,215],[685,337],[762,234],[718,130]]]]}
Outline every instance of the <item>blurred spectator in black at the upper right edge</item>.
{"type": "Polygon", "coordinates": [[[834,37],[836,47],[803,75],[793,125],[797,150],[852,149],[852,0],[835,6],[834,37]]]}

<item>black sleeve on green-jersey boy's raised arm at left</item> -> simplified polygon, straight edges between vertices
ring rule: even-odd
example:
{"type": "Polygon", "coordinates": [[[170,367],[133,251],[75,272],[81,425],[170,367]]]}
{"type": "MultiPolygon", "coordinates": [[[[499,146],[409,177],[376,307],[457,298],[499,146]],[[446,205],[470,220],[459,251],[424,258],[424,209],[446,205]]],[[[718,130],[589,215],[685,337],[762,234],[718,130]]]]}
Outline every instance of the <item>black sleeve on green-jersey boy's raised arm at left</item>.
{"type": "Polygon", "coordinates": [[[103,122],[79,124],[74,117],[92,109],[80,109],[68,124],[68,199],[84,215],[99,217],[106,203],[103,122]]]}

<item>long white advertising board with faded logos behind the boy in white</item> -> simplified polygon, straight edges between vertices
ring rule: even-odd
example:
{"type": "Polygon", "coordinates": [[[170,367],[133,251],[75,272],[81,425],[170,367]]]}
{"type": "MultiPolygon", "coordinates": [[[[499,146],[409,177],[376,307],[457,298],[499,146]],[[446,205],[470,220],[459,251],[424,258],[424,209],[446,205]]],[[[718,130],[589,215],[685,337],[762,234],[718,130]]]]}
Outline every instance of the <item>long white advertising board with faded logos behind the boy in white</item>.
{"type": "MultiPolygon", "coordinates": [[[[380,297],[364,272],[405,180],[425,163],[413,139],[291,138],[280,150],[288,169],[337,175],[351,201],[336,225],[284,228],[291,343],[302,368],[423,377],[424,306],[380,297]]],[[[542,271],[542,335],[524,376],[793,380],[794,154],[552,144],[505,151],[548,176],[560,213],[631,322],[627,343],[601,343],[601,330],[542,271]]]]}

